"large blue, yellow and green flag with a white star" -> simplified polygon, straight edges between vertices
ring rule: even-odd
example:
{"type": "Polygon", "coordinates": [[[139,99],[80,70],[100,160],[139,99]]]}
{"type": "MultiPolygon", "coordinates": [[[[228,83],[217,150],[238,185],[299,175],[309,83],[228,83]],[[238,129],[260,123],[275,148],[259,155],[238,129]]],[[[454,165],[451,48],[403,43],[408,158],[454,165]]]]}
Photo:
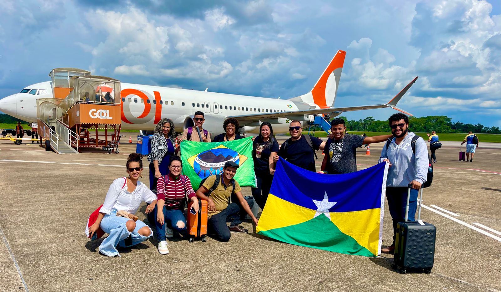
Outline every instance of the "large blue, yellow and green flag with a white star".
{"type": "Polygon", "coordinates": [[[339,253],[379,256],[387,163],[318,174],[277,162],[258,234],[339,253]]]}

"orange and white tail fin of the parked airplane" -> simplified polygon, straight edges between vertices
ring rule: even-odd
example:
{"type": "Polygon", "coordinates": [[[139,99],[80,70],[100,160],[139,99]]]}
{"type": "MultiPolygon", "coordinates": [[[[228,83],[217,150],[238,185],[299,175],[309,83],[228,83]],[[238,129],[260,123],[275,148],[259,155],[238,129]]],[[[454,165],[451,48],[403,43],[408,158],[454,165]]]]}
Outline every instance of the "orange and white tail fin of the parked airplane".
{"type": "Polygon", "coordinates": [[[320,76],[320,79],[313,89],[309,93],[291,100],[316,104],[320,106],[320,108],[333,107],[336,93],[338,92],[339,79],[341,78],[345,57],[346,52],[339,50],[334,58],[332,58],[332,61],[320,76]]]}

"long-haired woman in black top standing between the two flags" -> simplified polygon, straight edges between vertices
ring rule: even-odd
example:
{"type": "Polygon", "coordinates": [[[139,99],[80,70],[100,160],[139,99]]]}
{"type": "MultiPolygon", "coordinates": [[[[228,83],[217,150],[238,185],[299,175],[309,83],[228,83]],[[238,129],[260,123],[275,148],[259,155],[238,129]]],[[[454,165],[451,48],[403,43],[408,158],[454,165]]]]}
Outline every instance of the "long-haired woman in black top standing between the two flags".
{"type": "Polygon", "coordinates": [[[270,154],[272,152],[279,152],[279,143],[273,137],[272,125],[264,122],[259,128],[259,136],[254,139],[252,153],[257,184],[257,187],[252,188],[252,195],[261,209],[265,208],[272,187],[273,175],[270,174],[270,154]]]}

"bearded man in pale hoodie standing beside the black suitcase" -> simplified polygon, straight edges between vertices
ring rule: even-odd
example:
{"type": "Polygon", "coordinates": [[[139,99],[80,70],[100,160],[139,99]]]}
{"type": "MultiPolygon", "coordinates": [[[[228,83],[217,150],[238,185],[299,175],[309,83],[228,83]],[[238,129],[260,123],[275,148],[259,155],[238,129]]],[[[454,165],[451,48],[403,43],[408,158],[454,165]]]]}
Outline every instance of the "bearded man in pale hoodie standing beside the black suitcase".
{"type": "Polygon", "coordinates": [[[423,138],[407,131],[409,127],[407,116],[402,113],[394,114],[388,121],[393,138],[389,139],[383,147],[379,162],[390,163],[386,180],[386,198],[393,219],[393,243],[382,248],[382,253],[393,253],[395,250],[395,230],[397,223],[404,221],[408,184],[411,184],[412,188],[407,220],[414,221],[418,190],[426,181],[428,172],[426,142],[423,138]]]}

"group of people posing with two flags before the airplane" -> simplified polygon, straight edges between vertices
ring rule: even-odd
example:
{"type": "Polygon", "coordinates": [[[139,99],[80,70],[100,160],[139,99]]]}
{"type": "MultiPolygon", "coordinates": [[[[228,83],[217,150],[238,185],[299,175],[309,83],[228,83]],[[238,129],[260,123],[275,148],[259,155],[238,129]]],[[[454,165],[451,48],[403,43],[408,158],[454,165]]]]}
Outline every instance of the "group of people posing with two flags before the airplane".
{"type": "MultiPolygon", "coordinates": [[[[210,133],[203,129],[203,112],[194,114],[194,127],[185,129],[182,140],[211,142],[210,133]]],[[[300,121],[291,121],[289,133],[291,138],[281,147],[273,135],[273,127],[264,122],[260,126],[259,135],[253,139],[252,156],[255,165],[257,186],[252,188],[252,195],[256,203],[264,209],[275,174],[276,162],[282,157],[288,162],[301,168],[315,172],[315,156],[317,150],[325,149],[322,161],[323,174],[342,174],[357,171],[356,149],[364,144],[386,141],[381,151],[380,162],[388,162],[389,170],[386,182],[386,196],[390,214],[393,220],[393,231],[396,224],[404,220],[407,185],[412,185],[409,202],[409,220],[414,220],[417,209],[417,194],[421,185],[426,181],[428,170],[428,150],[425,141],[408,131],[409,120],[406,115],[397,113],[389,119],[391,135],[364,137],[346,133],[345,121],[336,118],[331,123],[331,131],[327,141],[304,135],[300,121]],[[415,138],[417,137],[417,139],[415,138]],[[411,144],[414,146],[411,147],[411,144]]],[[[223,123],[224,133],[214,137],[214,142],[232,141],[241,139],[238,134],[238,121],[228,118],[223,123]]],[[[117,179],[110,186],[106,195],[105,204],[101,208],[99,222],[89,228],[95,231],[101,228],[110,235],[103,240],[100,250],[109,256],[118,255],[116,246],[129,246],[150,237],[152,232],[140,220],[113,218],[117,210],[125,210],[134,214],[141,201],[148,206],[145,213],[155,221],[158,233],[158,251],[168,253],[167,237],[174,236],[174,232],[186,232],[187,222],[183,214],[185,204],[192,203],[195,212],[198,212],[198,199],[206,200],[208,205],[209,235],[220,241],[228,241],[231,232],[247,232],[239,224],[245,215],[250,216],[258,224],[258,219],[251,208],[254,205],[252,198],[244,198],[237,181],[233,179],[238,164],[232,161],[225,163],[223,172],[209,176],[197,190],[191,187],[189,177],[181,174],[182,161],[177,156],[179,147],[174,142],[174,123],[170,119],[161,119],[151,138],[151,152],[148,155],[150,163],[150,188],[141,183],[141,156],[133,153],[126,164],[128,177],[117,179]],[[155,194],[156,192],[156,194],[155,194]],[[133,199],[131,200],[130,197],[133,199]],[[232,197],[232,202],[229,198],[232,197]],[[226,222],[230,222],[227,226],[226,222]],[[132,241],[125,242],[126,238],[132,241]]],[[[432,146],[438,141],[430,135],[432,146]]],[[[432,151],[433,153],[434,151],[432,151]]],[[[394,240],[395,237],[393,237],[394,240]]],[[[383,248],[382,252],[393,252],[394,243],[383,248]]]]}

